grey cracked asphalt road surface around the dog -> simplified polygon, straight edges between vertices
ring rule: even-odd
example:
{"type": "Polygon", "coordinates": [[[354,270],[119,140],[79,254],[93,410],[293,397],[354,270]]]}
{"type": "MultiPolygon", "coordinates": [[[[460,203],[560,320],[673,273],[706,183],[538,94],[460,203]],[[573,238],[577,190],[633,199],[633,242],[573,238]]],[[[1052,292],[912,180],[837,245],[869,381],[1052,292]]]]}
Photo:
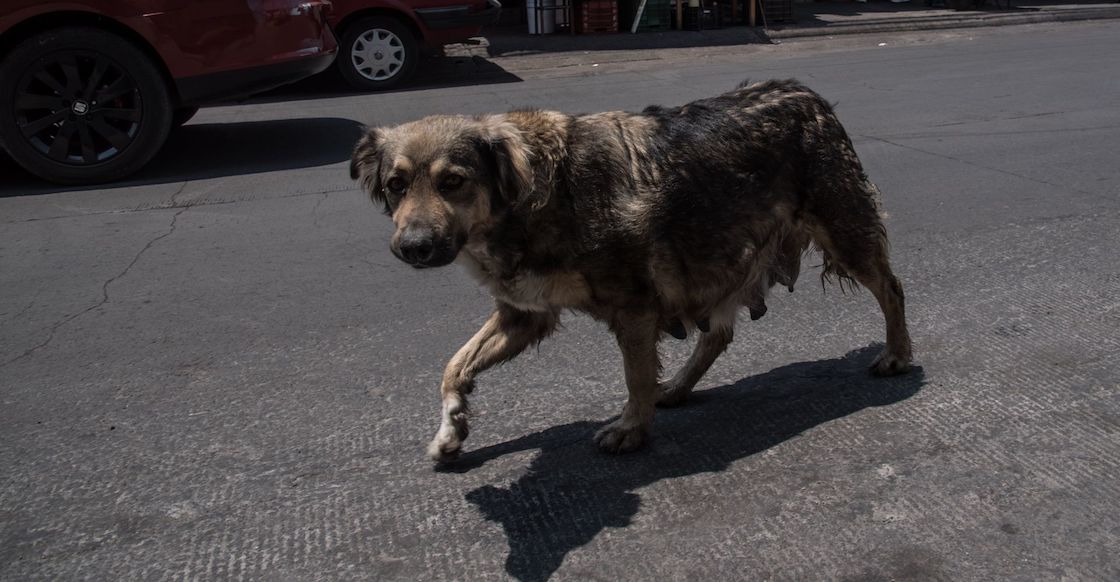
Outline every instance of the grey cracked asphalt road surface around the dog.
{"type": "Polygon", "coordinates": [[[1118,580],[1118,36],[466,59],[205,110],[113,187],[0,161],[0,579],[1118,580]],[[590,443],[620,358],[571,316],[482,378],[433,470],[441,368],[491,300],[390,255],[358,123],[788,76],[885,194],[920,367],[868,377],[875,301],[810,260],[644,451],[590,443]]]}

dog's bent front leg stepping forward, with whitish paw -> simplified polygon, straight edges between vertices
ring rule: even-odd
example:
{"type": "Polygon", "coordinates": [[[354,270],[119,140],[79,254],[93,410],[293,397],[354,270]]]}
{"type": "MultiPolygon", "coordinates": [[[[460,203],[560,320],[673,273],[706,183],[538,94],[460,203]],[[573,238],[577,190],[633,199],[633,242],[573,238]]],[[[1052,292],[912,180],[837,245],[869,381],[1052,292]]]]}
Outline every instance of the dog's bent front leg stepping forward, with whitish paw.
{"type": "Polygon", "coordinates": [[[475,376],[486,368],[513,358],[529,346],[544,339],[558,322],[554,312],[520,311],[498,303],[482,329],[455,354],[444,369],[440,395],[444,401],[439,432],[428,445],[436,461],[455,458],[467,438],[467,398],[475,376]]]}

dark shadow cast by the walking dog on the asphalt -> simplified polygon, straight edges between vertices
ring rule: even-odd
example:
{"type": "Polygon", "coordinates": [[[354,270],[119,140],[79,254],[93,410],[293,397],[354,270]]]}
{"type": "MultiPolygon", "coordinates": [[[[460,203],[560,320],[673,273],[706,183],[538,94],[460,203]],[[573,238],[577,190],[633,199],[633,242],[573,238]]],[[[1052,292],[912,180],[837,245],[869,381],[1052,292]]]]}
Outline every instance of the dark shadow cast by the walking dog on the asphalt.
{"type": "Polygon", "coordinates": [[[791,364],[698,392],[685,406],[657,414],[652,445],[638,453],[601,454],[589,444],[600,423],[575,422],[464,452],[441,470],[468,471],[504,454],[540,449],[507,488],[484,486],[466,498],[505,529],[510,575],[544,581],[569,552],[604,528],[629,525],[642,504],[634,490],[661,479],[722,471],[819,424],[916,394],[925,383],[920,367],[893,378],[868,375],[879,349],[791,364]]]}

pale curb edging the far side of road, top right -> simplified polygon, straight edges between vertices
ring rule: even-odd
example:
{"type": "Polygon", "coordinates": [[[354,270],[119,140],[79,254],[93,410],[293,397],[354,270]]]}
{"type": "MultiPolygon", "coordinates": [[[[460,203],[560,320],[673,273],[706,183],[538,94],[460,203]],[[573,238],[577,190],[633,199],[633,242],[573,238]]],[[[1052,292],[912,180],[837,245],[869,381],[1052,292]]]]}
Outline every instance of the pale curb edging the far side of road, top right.
{"type": "Polygon", "coordinates": [[[1039,22],[1072,22],[1077,20],[1105,20],[1120,18],[1120,6],[1047,10],[1029,13],[998,15],[986,13],[976,16],[945,16],[915,18],[898,21],[853,22],[850,25],[828,25],[813,28],[769,28],[766,36],[774,40],[785,38],[808,38],[837,35],[858,35],[865,32],[902,32],[911,30],[942,30],[949,28],[980,28],[990,26],[1034,25],[1039,22]]]}

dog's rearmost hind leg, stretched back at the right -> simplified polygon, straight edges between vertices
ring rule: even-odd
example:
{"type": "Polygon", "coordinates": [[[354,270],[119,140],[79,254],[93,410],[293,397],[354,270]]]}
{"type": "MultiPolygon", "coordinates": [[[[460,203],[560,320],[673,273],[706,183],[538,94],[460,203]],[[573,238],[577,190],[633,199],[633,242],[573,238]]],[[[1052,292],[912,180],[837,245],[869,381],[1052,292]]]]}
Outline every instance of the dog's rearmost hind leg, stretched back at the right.
{"type": "Polygon", "coordinates": [[[821,278],[853,279],[866,287],[879,302],[886,319],[887,346],[870,370],[878,376],[902,374],[913,358],[909,332],[906,330],[906,299],[903,285],[890,270],[886,228],[879,218],[877,191],[870,182],[861,182],[862,191],[843,193],[834,199],[847,201],[823,215],[814,213],[810,225],[813,240],[824,253],[821,278]]]}

